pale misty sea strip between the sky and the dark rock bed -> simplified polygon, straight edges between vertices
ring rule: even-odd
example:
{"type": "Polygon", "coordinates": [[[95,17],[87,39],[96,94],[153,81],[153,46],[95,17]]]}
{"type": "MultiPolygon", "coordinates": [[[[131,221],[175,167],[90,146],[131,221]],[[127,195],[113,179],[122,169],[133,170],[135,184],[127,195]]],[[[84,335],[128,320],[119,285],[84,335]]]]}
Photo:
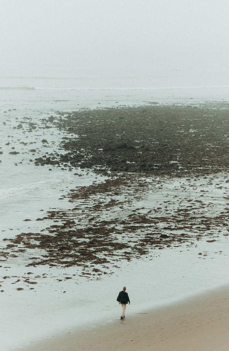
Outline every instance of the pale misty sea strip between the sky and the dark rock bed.
{"type": "Polygon", "coordinates": [[[192,68],[0,64],[0,104],[37,112],[227,100],[229,66],[192,68]]]}

